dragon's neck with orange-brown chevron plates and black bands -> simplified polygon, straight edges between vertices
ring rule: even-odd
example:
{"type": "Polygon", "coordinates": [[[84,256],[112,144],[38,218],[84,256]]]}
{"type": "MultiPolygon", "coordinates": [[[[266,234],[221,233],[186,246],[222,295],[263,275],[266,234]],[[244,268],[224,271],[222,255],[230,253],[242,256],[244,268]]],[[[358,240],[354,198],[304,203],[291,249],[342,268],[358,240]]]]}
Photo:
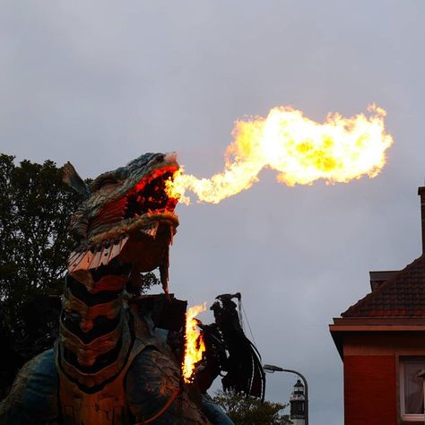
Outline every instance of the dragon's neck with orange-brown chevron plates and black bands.
{"type": "Polygon", "coordinates": [[[123,369],[132,334],[123,290],[124,265],[79,270],[65,279],[59,327],[59,367],[87,392],[104,385],[123,369]]]}

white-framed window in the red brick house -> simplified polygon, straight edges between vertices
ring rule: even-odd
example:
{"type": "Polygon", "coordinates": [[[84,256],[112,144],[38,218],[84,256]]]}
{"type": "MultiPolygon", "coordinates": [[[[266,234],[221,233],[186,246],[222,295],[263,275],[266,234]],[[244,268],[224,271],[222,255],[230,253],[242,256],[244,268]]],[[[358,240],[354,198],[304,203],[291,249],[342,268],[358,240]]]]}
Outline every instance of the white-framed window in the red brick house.
{"type": "Polygon", "coordinates": [[[403,421],[423,423],[423,378],[425,356],[400,357],[400,407],[403,421]]]}

